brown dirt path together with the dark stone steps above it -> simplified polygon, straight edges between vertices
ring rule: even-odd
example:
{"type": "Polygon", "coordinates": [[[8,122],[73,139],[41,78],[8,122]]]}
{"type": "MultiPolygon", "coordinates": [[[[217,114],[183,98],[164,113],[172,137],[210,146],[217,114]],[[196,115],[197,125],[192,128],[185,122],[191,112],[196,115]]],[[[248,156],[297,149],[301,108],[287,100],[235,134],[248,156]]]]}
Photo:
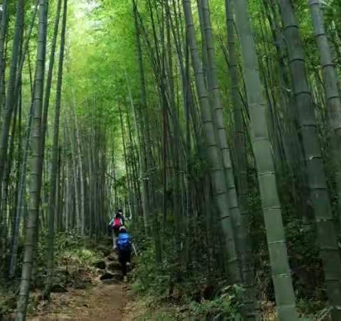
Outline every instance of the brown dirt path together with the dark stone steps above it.
{"type": "Polygon", "coordinates": [[[115,254],[98,261],[97,275],[85,289],[69,288],[42,301],[38,313],[28,320],[130,320],[124,317],[125,289],[115,254]]]}

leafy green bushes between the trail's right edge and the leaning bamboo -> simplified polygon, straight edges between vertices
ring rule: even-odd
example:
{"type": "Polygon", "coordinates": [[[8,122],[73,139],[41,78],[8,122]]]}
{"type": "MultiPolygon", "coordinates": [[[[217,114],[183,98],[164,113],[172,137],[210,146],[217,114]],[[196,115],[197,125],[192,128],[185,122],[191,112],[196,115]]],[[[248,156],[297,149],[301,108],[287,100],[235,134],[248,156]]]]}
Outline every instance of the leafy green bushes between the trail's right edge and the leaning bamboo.
{"type": "Polygon", "coordinates": [[[226,285],[195,264],[183,268],[175,257],[156,264],[153,245],[145,246],[132,273],[131,293],[146,307],[138,320],[240,319],[241,287],[226,285]]]}

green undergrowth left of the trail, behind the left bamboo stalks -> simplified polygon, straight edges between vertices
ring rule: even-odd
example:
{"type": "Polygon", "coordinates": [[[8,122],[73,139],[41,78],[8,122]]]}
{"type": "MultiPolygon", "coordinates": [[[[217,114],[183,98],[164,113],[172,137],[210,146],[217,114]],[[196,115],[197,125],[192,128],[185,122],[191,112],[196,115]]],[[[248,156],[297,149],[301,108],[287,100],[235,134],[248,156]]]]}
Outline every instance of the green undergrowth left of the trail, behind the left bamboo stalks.
{"type": "MultiPolygon", "coordinates": [[[[108,244],[97,245],[92,239],[77,235],[75,231],[55,235],[55,268],[53,286],[60,291],[67,288],[86,288],[92,283],[95,269],[93,263],[102,259],[109,249],[108,244]]],[[[33,283],[28,304],[28,313],[34,313],[43,298],[47,277],[47,234],[41,232],[36,261],[33,266],[33,283]]],[[[0,320],[8,317],[16,308],[16,295],[21,278],[23,244],[18,248],[18,264],[15,276],[0,282],[0,320]]]]}

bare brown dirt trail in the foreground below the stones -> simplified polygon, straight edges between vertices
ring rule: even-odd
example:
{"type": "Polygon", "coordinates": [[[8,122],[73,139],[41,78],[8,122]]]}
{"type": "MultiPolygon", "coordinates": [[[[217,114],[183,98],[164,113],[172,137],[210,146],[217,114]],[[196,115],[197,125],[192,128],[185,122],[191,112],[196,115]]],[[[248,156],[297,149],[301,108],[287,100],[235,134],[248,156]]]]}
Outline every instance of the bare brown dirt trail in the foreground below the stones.
{"type": "MultiPolygon", "coordinates": [[[[123,320],[124,285],[98,283],[85,290],[70,289],[51,295],[48,305],[40,306],[31,321],[43,320],[123,320]]],[[[124,320],[127,320],[124,318],[124,320]]]]}

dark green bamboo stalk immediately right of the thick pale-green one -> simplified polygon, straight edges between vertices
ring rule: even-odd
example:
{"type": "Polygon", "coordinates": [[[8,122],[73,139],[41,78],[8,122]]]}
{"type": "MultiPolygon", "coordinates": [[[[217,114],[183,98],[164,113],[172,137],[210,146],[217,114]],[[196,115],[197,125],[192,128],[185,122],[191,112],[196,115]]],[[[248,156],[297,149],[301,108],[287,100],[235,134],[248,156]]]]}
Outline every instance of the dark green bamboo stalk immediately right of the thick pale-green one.
{"type": "Polygon", "coordinates": [[[332,310],[332,319],[341,320],[341,259],[320,150],[313,99],[305,71],[303,45],[291,1],[280,0],[279,4],[284,36],[288,46],[289,67],[298,109],[298,125],[305,156],[310,202],[313,206],[318,230],[327,294],[332,310]]]}

